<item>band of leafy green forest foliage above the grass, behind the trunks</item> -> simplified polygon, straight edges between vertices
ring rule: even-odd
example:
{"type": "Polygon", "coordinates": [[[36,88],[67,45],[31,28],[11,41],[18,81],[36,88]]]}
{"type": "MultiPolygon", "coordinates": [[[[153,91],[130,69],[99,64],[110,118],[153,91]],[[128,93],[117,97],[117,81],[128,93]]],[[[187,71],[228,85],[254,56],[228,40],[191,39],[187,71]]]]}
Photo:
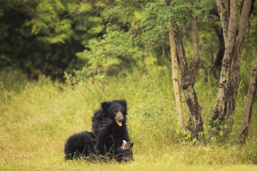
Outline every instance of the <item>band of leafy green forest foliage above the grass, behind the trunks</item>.
{"type": "MultiPolygon", "coordinates": [[[[189,10],[192,10],[197,17],[200,56],[204,56],[200,67],[206,69],[206,77],[212,77],[213,72],[219,70],[213,68],[219,48],[213,27],[221,27],[221,23],[213,14],[216,4],[211,0],[187,3],[176,0],[171,1],[168,8],[160,0],[4,0],[1,3],[2,69],[10,66],[22,69],[32,78],[41,73],[51,75],[53,79],[62,78],[66,71],[71,77],[78,75],[83,79],[98,80],[106,74],[116,74],[120,69],[136,67],[146,71],[142,54],[144,44],[149,56],[157,61],[155,64],[170,66],[169,20],[181,28],[187,57],[191,61],[194,53],[189,10]]],[[[253,62],[250,56],[256,45],[256,12],[253,11],[251,16],[245,46],[252,50],[243,51],[249,63],[253,62]]],[[[243,84],[247,85],[248,79],[243,84]]]]}

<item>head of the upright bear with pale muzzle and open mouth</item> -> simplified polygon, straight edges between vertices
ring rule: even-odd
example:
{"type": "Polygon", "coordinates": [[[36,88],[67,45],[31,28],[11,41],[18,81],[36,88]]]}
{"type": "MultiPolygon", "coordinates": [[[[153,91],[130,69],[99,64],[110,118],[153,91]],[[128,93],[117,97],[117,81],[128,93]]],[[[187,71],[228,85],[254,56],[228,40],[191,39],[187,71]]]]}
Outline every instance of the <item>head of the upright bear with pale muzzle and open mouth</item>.
{"type": "Polygon", "coordinates": [[[122,126],[122,122],[125,122],[127,115],[127,103],[125,100],[102,102],[101,106],[107,117],[114,119],[118,126],[122,126]]]}

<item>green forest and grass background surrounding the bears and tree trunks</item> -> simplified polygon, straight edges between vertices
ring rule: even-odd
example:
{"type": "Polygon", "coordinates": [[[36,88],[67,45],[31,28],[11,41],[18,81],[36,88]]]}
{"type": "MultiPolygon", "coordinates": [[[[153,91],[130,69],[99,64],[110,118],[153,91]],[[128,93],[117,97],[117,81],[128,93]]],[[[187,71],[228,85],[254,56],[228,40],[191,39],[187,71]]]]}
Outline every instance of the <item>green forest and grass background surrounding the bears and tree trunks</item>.
{"type": "MultiPolygon", "coordinates": [[[[229,13],[230,1],[224,2],[229,13]]],[[[239,18],[244,2],[236,1],[239,18]]],[[[169,3],[0,0],[0,169],[256,170],[256,95],[247,139],[238,143],[257,57],[256,2],[251,1],[228,136],[226,124],[215,129],[211,125],[225,53],[216,2],[169,3]],[[194,61],[192,16],[200,58],[193,87],[203,121],[201,138],[181,129],[177,119],[169,39],[172,20],[174,31],[177,27],[181,33],[187,62],[194,61]],[[128,103],[134,161],[65,162],[65,140],[90,131],[100,102],[114,99],[128,103]]],[[[181,87],[180,92],[183,117],[191,121],[181,87]]]]}

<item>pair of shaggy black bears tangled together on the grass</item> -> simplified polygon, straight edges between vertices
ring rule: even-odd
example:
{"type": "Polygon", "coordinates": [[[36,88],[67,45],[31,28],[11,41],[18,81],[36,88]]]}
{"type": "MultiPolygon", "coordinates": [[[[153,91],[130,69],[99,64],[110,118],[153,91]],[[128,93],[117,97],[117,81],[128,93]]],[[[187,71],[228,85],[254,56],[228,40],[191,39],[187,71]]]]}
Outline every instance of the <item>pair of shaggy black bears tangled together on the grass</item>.
{"type": "Polygon", "coordinates": [[[68,138],[65,159],[84,157],[114,158],[117,161],[133,159],[133,142],[126,129],[127,104],[125,100],[102,102],[92,118],[93,132],[84,131],[68,138]]]}

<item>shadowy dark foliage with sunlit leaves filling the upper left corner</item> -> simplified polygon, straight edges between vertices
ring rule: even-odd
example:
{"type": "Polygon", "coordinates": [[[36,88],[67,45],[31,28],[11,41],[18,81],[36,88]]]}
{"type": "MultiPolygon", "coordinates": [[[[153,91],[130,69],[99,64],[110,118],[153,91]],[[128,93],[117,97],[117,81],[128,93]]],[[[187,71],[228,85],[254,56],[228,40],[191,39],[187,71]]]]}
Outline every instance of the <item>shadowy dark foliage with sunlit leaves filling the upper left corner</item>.
{"type": "Polygon", "coordinates": [[[1,65],[62,77],[81,68],[76,53],[104,31],[94,1],[2,1],[1,65]],[[12,22],[9,22],[12,21],[12,22]]]}

